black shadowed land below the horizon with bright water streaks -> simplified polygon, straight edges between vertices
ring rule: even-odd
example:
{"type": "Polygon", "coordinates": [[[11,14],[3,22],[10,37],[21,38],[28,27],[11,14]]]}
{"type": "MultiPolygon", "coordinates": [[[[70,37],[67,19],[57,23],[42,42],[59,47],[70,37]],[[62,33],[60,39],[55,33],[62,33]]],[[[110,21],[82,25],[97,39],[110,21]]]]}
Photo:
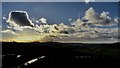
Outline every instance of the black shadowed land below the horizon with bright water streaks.
{"type": "Polygon", "coordinates": [[[84,64],[120,64],[120,45],[3,42],[2,59],[2,68],[78,68],[84,64]],[[35,58],[35,62],[27,63],[35,58]]]}

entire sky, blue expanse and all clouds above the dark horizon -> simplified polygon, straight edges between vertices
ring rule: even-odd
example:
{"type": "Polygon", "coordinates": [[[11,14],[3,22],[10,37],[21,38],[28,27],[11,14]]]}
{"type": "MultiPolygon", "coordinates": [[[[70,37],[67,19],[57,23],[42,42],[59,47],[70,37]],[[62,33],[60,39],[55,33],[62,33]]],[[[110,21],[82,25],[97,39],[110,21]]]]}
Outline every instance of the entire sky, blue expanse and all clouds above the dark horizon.
{"type": "Polygon", "coordinates": [[[2,16],[7,41],[118,38],[117,2],[3,2],[2,16]]]}

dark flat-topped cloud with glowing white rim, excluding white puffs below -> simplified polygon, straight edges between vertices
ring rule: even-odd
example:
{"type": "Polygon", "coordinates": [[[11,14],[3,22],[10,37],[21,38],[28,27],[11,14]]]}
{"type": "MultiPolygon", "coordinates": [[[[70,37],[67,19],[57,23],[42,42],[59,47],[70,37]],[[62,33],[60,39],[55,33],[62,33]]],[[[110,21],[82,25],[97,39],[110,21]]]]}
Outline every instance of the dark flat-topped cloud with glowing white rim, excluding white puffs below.
{"type": "Polygon", "coordinates": [[[25,11],[11,11],[7,22],[11,26],[34,26],[32,21],[29,19],[27,12],[25,11]]]}

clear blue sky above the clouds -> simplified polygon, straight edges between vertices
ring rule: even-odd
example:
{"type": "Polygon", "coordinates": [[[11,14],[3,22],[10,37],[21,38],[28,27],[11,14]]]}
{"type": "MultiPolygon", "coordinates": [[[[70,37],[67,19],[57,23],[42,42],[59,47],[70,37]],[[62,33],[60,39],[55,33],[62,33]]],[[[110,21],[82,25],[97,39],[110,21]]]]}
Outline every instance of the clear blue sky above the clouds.
{"type": "MultiPolygon", "coordinates": [[[[89,4],[84,2],[4,2],[2,3],[2,15],[8,17],[10,11],[22,10],[29,14],[30,19],[44,17],[50,24],[62,22],[70,24],[68,19],[75,20],[78,17],[83,17],[85,11],[90,7],[93,7],[97,12],[108,11],[111,17],[118,17],[118,11],[114,11],[118,10],[118,4],[116,2],[98,2],[89,4]]],[[[4,24],[6,23],[3,23],[3,25],[4,24]]]]}

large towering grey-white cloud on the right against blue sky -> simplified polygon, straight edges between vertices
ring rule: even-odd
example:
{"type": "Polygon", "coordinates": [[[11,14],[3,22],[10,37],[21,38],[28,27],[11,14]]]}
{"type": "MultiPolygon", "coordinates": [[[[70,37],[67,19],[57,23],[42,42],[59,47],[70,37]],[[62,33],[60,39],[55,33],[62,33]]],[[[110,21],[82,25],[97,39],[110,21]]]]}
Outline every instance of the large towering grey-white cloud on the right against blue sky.
{"type": "Polygon", "coordinates": [[[90,7],[86,12],[83,20],[88,20],[88,22],[95,25],[113,25],[117,23],[117,19],[111,18],[109,12],[103,11],[102,13],[96,12],[92,7],[90,7]]]}

